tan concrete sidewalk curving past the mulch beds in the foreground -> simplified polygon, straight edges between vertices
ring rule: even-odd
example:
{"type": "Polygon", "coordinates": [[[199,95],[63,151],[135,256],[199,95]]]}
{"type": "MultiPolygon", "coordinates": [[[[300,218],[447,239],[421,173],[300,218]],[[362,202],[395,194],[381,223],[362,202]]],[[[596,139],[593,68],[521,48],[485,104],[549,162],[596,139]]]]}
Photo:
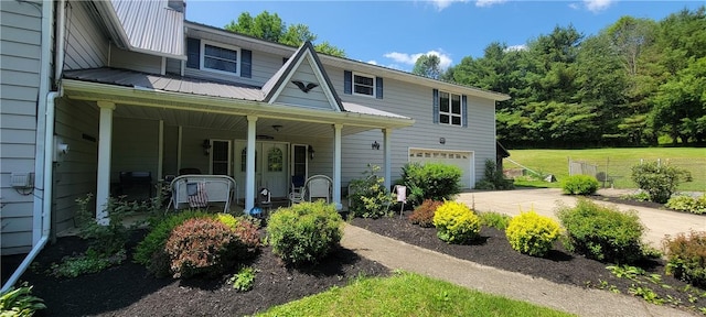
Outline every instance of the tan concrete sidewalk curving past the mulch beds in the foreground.
{"type": "Polygon", "coordinates": [[[694,316],[623,294],[557,284],[459,260],[351,225],[345,227],[341,244],[393,270],[416,272],[468,288],[579,316],[694,316]]]}

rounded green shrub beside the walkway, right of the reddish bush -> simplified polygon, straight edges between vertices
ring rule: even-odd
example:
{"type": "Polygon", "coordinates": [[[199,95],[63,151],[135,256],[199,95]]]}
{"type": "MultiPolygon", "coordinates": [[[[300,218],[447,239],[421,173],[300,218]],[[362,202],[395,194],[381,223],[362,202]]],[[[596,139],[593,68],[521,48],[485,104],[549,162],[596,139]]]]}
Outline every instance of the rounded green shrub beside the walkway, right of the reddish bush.
{"type": "Polygon", "coordinates": [[[272,214],[267,234],[272,252],[285,262],[315,263],[338,247],[342,225],[334,205],[302,203],[272,214]]]}

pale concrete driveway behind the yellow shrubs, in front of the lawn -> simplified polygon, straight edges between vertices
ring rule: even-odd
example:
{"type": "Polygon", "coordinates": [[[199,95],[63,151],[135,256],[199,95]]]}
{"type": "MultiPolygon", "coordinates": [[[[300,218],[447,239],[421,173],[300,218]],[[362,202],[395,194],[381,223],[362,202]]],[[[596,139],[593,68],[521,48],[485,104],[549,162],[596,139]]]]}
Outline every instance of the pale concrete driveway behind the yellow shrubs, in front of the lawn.
{"type": "MultiPolygon", "coordinates": [[[[599,194],[618,195],[613,189],[601,189],[599,194]],[[612,192],[611,192],[612,190],[612,192]]],[[[576,197],[561,194],[558,188],[514,189],[499,192],[462,193],[458,201],[464,203],[474,210],[496,211],[510,216],[520,215],[520,210],[534,209],[539,215],[556,218],[555,210],[559,204],[574,207],[576,197]]],[[[596,201],[596,200],[595,200],[596,201]]],[[[642,223],[648,228],[644,241],[661,249],[664,236],[674,236],[691,230],[706,231],[706,215],[692,215],[654,208],[600,203],[617,206],[620,210],[637,210],[642,223]]]]}

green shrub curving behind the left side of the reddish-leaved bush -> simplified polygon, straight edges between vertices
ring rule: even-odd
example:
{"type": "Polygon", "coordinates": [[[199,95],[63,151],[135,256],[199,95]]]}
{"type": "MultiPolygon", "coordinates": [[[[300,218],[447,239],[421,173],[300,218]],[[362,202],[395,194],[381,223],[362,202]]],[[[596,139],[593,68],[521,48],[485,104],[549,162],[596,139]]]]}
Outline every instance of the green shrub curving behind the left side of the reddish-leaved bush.
{"type": "Polygon", "coordinates": [[[133,261],[147,266],[157,276],[163,276],[163,273],[169,272],[169,258],[163,252],[164,244],[172,230],[189,219],[207,217],[212,217],[212,215],[195,210],[174,214],[161,219],[135,248],[133,261]]]}

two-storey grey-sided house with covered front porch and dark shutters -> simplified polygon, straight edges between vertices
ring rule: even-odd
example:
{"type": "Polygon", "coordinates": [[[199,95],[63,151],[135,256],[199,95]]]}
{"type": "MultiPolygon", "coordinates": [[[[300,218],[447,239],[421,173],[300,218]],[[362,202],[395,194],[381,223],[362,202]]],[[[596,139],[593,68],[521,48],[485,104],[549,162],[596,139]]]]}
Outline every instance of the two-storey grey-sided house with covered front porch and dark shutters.
{"type": "MultiPolygon", "coordinates": [[[[293,175],[333,178],[340,204],[367,164],[495,160],[502,94],[290,47],[184,20],[181,0],[0,1],[2,254],[96,218],[120,175],[182,168],[285,197],[293,175]]],[[[334,40],[334,39],[333,39],[334,40]]],[[[39,247],[38,247],[39,245],[39,247]]]]}

